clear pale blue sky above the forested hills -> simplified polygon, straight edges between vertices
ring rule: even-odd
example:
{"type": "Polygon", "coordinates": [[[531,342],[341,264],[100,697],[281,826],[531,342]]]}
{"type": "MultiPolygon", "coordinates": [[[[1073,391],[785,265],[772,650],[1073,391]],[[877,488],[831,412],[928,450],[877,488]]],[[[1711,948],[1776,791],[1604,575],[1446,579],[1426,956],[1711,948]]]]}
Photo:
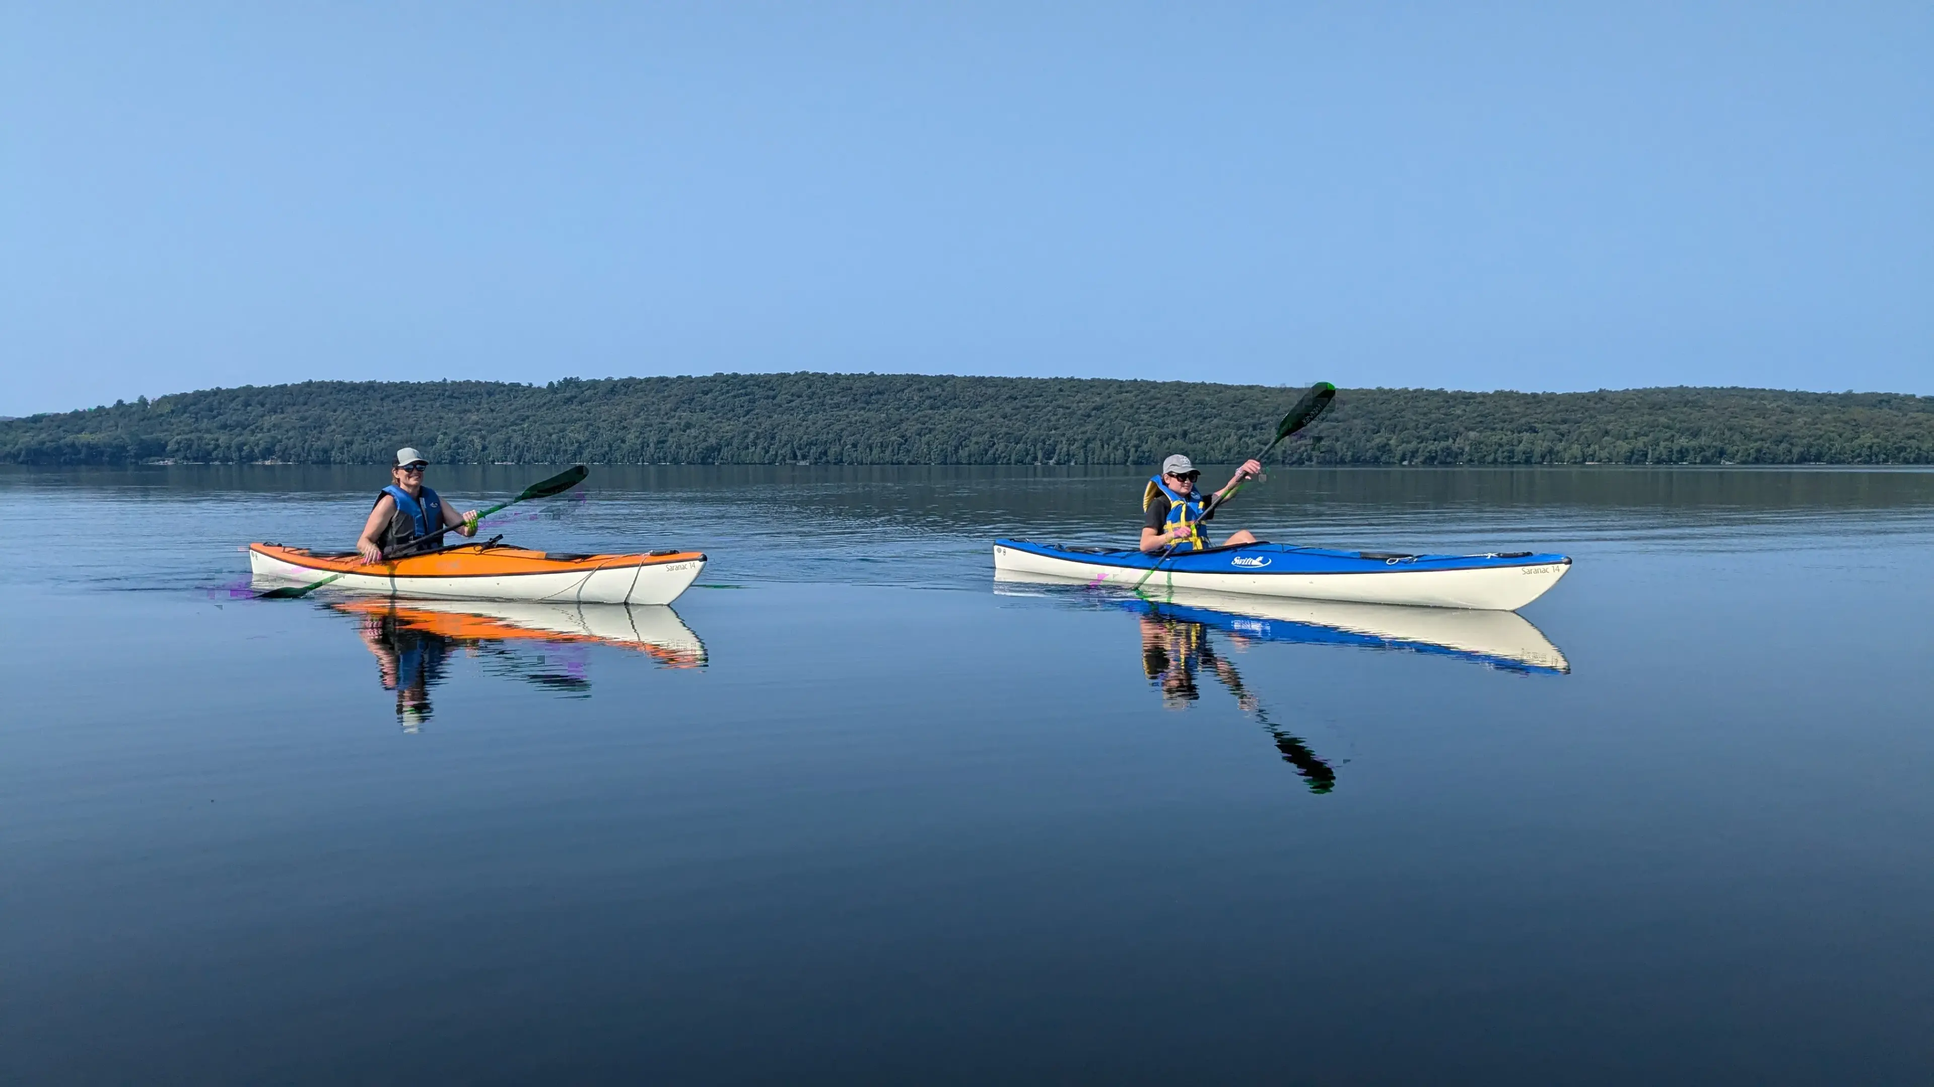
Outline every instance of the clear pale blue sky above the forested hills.
{"type": "Polygon", "coordinates": [[[0,350],[1934,393],[1934,4],[4,4],[0,350]]]}

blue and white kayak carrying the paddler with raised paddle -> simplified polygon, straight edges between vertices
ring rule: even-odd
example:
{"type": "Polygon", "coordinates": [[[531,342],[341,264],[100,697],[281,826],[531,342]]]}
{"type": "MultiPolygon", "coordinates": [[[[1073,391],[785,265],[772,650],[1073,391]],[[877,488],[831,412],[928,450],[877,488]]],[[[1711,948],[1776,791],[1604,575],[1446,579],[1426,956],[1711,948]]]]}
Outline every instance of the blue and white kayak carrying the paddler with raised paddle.
{"type": "Polygon", "coordinates": [[[994,569],[1089,584],[1516,611],[1559,584],[1570,559],[1530,551],[1398,555],[1292,544],[1207,547],[1160,559],[1133,549],[996,540],[994,569]]]}

